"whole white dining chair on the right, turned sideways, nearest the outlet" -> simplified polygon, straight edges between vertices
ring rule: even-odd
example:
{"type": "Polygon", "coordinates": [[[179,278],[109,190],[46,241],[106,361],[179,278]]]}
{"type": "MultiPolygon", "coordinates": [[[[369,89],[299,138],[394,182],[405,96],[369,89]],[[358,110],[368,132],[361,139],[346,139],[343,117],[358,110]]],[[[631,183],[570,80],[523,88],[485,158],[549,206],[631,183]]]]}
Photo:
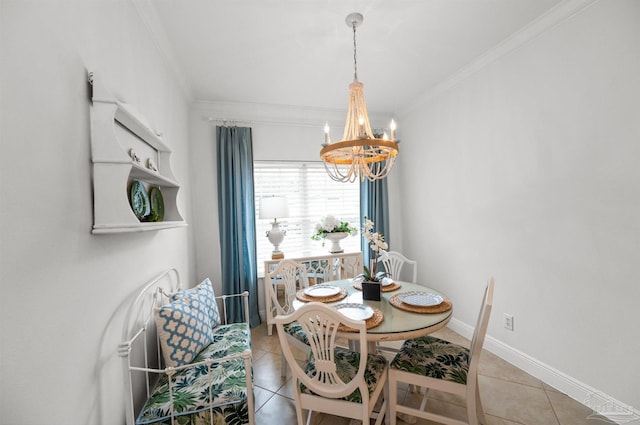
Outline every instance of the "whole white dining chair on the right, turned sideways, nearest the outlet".
{"type": "Polygon", "coordinates": [[[490,278],[469,349],[428,335],[404,342],[389,366],[391,425],[396,424],[397,413],[450,425],[487,425],[478,388],[478,363],[493,305],[493,286],[494,279],[490,278]],[[426,388],[419,409],[397,401],[400,382],[426,388]],[[464,397],[467,421],[426,411],[429,389],[464,397]]]}

